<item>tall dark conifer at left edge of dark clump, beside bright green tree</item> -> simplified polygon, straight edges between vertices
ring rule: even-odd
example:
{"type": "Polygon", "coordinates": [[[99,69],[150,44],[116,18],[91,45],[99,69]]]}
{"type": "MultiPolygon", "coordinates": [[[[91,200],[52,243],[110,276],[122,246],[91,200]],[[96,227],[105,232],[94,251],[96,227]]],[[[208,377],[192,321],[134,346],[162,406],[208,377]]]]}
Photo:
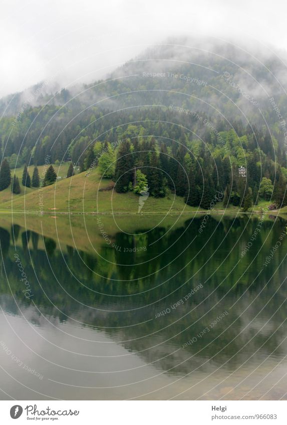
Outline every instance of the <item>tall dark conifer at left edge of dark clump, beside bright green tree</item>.
{"type": "Polygon", "coordinates": [[[126,141],[119,147],[115,168],[115,190],[125,193],[129,190],[129,183],[133,181],[133,158],[130,142],[126,141]]]}

